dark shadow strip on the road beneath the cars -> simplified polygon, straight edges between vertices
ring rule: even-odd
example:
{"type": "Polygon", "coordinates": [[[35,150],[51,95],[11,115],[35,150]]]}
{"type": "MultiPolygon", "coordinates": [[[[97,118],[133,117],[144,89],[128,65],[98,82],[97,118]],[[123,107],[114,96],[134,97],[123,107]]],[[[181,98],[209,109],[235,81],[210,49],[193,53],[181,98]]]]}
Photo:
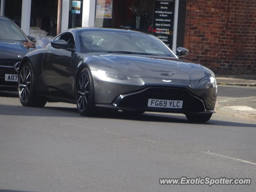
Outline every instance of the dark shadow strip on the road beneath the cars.
{"type": "MultiPolygon", "coordinates": [[[[12,115],[12,116],[45,116],[45,117],[68,117],[68,118],[85,118],[78,114],[76,108],[68,107],[44,107],[44,108],[32,108],[24,106],[9,106],[0,105],[0,115],[12,115]]],[[[185,124],[205,124],[216,126],[235,126],[235,127],[254,127],[255,124],[237,123],[229,121],[221,121],[211,119],[206,123],[192,123],[189,122],[184,115],[177,116],[172,114],[160,114],[160,113],[144,113],[142,115],[126,114],[123,112],[114,112],[111,110],[99,111],[96,115],[86,118],[106,118],[106,119],[120,119],[120,120],[135,120],[135,121],[147,121],[147,122],[170,122],[170,123],[185,123],[185,124]]]]}

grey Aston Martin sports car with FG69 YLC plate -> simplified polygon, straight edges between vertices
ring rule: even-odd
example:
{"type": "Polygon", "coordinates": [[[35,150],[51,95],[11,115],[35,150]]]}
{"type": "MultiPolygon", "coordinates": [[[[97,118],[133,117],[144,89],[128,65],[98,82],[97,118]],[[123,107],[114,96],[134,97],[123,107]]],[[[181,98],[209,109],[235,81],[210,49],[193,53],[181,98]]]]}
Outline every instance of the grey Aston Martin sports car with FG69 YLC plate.
{"type": "Polygon", "coordinates": [[[208,121],[214,113],[214,73],[180,59],[155,36],[131,30],[74,28],[56,36],[46,48],[22,59],[18,76],[20,102],[77,104],[87,116],[97,108],[128,113],[183,113],[208,121]]]}

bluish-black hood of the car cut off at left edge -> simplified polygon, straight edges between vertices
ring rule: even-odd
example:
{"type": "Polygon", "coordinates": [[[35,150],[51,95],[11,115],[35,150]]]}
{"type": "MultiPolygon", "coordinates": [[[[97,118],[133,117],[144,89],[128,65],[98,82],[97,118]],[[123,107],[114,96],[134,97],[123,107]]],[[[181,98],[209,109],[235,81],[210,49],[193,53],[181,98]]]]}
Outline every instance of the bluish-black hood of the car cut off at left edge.
{"type": "Polygon", "coordinates": [[[0,42],[0,58],[21,59],[31,48],[31,42],[0,42]]]}

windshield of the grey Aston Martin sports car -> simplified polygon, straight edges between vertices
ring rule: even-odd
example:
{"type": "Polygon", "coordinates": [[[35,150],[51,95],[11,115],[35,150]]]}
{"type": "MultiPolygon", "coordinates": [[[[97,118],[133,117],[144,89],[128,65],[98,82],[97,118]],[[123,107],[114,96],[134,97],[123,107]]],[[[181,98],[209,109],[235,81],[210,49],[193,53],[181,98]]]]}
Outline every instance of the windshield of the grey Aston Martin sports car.
{"type": "Polygon", "coordinates": [[[108,52],[175,57],[164,44],[152,35],[108,30],[80,30],[83,53],[108,52]]]}

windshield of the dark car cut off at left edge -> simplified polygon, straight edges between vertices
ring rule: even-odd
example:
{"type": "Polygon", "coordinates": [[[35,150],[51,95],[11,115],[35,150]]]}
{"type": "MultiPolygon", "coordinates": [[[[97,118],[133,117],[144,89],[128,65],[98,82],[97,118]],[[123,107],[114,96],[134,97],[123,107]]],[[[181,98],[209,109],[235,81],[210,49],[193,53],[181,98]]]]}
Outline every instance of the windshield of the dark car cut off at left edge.
{"type": "Polygon", "coordinates": [[[20,30],[8,20],[0,20],[0,40],[27,41],[20,30]]]}

